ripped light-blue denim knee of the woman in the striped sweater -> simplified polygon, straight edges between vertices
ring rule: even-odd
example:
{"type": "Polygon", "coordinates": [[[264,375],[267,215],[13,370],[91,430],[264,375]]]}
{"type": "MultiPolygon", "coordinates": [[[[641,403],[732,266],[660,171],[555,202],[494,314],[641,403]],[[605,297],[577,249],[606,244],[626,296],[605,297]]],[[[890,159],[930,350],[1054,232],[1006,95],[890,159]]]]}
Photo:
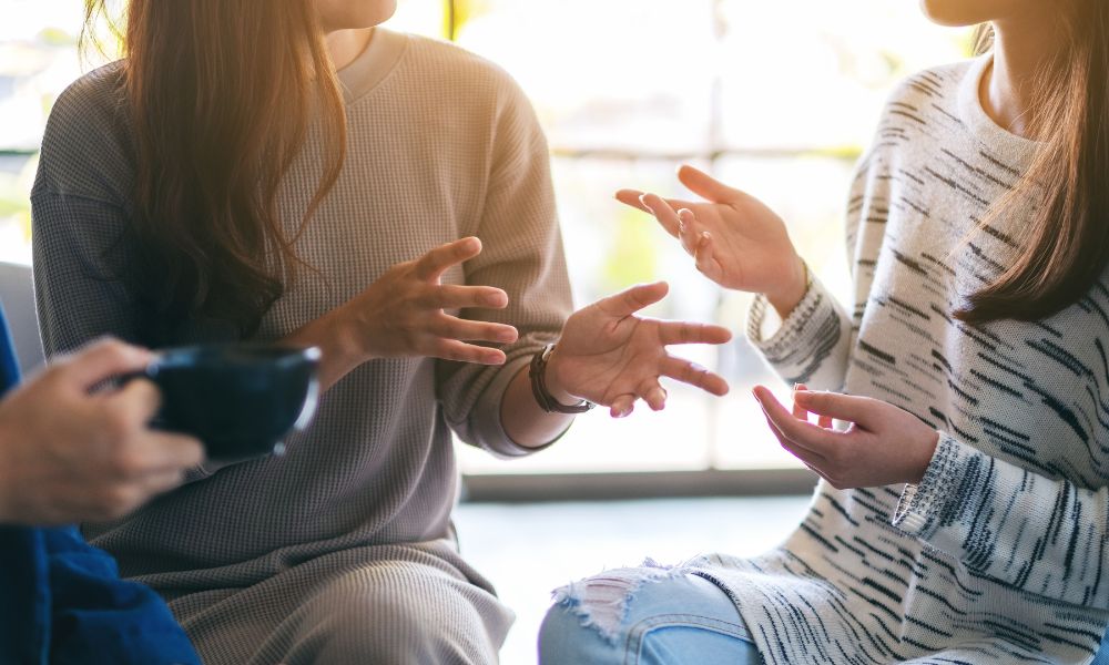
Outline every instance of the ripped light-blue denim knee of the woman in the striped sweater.
{"type": "Polygon", "coordinates": [[[647,565],[556,592],[540,665],[761,665],[732,600],[712,582],[647,565]]]}

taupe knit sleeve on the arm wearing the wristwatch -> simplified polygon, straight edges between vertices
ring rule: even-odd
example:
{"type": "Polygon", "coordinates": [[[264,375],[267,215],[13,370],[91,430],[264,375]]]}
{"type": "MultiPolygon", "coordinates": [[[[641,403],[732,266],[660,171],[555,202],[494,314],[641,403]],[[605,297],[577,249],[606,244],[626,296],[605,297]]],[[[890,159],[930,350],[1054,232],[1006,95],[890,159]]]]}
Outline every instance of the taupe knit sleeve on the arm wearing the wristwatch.
{"type": "Polygon", "coordinates": [[[478,225],[484,249],[466,264],[466,282],[505,289],[509,306],[462,316],[513,325],[520,337],[502,347],[508,359],[500,367],[439,362],[439,399],[462,441],[512,458],[538,449],[521,447],[505,432],[505,390],[536,351],[558,339],[572,304],[547,140],[523,93],[510,80],[506,89],[478,225]]]}

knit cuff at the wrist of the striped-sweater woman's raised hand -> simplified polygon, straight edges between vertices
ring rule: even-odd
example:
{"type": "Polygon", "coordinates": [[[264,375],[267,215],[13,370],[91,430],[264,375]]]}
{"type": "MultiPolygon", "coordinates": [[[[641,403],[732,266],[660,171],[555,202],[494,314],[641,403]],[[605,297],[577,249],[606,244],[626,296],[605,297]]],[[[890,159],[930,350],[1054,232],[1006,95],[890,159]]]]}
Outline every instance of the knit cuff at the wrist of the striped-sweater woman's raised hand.
{"type": "Polygon", "coordinates": [[[763,324],[770,308],[766,296],[755,297],[747,314],[747,339],[787,383],[808,382],[821,364],[844,341],[844,317],[835,298],[818,279],[813,279],[797,306],[767,339],[763,335],[763,324]]]}

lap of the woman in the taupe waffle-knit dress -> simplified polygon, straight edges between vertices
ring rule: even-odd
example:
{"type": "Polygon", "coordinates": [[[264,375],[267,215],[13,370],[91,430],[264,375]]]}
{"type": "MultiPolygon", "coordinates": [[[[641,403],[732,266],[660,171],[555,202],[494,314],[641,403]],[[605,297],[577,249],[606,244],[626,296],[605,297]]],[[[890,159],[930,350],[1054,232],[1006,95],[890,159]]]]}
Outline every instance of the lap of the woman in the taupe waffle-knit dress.
{"type": "Polygon", "coordinates": [[[205,663],[496,663],[511,612],[429,556],[301,564],[248,589],[206,592],[183,625],[205,663]]]}

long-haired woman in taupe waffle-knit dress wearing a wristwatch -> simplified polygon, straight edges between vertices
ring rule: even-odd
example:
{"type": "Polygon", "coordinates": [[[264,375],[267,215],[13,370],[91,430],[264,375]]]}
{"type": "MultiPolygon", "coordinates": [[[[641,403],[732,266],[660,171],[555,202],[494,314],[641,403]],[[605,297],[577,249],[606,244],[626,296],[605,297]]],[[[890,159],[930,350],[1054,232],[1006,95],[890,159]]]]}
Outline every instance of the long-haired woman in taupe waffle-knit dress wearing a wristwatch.
{"type": "Polygon", "coordinates": [[[324,350],[284,458],[85,526],[206,663],[496,661],[512,615],[459,556],[451,432],[519,457],[587,401],[661,409],[662,376],[726,391],[665,350],[725,329],[635,316],[663,284],[570,316],[527,100],[477,57],[372,28],[391,10],[132,0],[128,58],[71,86],[43,141],[48,352],[105,334],[324,350]]]}

